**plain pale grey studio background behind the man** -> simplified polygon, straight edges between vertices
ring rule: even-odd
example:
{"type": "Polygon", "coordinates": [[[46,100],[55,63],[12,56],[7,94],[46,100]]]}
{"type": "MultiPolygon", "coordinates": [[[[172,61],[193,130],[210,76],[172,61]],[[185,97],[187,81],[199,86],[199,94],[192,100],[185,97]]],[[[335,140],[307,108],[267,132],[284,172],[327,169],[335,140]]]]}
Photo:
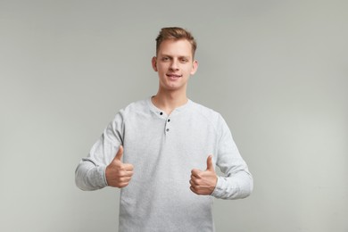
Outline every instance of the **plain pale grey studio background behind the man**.
{"type": "Polygon", "coordinates": [[[348,231],[347,1],[0,1],[0,231],[116,231],[119,191],[74,170],[153,95],[154,38],[190,29],[189,97],[228,121],[253,195],[217,231],[348,231]]]}

